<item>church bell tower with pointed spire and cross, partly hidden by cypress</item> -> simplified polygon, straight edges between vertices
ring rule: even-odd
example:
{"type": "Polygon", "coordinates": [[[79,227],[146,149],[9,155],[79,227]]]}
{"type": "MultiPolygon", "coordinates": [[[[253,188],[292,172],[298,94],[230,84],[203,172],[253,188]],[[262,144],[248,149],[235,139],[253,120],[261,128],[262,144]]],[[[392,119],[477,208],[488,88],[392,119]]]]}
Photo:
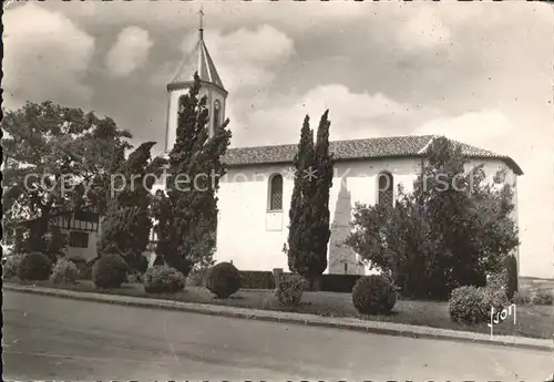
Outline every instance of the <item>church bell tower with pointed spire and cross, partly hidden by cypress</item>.
{"type": "Polygon", "coordinates": [[[170,153],[177,137],[177,121],[181,100],[188,94],[194,84],[194,72],[201,79],[201,91],[198,96],[206,96],[206,106],[209,112],[208,133],[214,135],[215,127],[225,121],[225,101],[228,92],[223,86],[222,79],[215,69],[214,61],[208,53],[204,42],[204,29],[202,19],[204,12],[201,10],[201,24],[198,29],[198,41],[188,56],[177,71],[173,80],[167,84],[167,126],[165,133],[165,153],[170,153]]]}

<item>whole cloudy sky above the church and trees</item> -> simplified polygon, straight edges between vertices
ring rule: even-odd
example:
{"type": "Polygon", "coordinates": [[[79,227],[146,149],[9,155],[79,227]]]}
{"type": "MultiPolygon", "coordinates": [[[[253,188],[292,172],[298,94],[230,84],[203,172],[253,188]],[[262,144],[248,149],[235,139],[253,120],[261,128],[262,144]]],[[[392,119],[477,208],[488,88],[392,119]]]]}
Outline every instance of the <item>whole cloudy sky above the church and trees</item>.
{"type": "MultiPolygon", "coordinates": [[[[232,146],[296,143],[329,109],[330,138],[441,134],[519,178],[521,273],[554,278],[554,13],[541,2],[203,1],[232,146]]],[[[163,149],[165,85],[201,2],[4,7],[4,107],[51,100],[107,115],[163,149]]]]}

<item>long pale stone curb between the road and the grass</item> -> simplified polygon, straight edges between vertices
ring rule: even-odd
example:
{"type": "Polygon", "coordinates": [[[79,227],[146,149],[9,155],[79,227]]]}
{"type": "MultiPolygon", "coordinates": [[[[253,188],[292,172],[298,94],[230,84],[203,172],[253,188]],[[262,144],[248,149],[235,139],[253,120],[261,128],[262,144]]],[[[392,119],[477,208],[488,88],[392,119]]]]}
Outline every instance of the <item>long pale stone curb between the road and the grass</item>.
{"type": "Polygon", "coordinates": [[[554,351],[552,341],[545,339],[507,337],[507,335],[497,335],[491,339],[489,334],[483,334],[483,333],[400,324],[394,322],[365,321],[353,318],[329,318],[329,317],[320,317],[306,313],[279,312],[271,310],[247,309],[247,308],[216,306],[207,303],[178,302],[173,300],[127,297],[120,295],[75,292],[64,289],[52,289],[52,288],[41,288],[41,287],[3,285],[3,289],[23,293],[61,297],[73,300],[104,302],[104,303],[121,304],[127,307],[178,310],[191,313],[202,313],[202,314],[249,319],[258,321],[269,321],[269,322],[305,324],[305,326],[320,327],[320,328],[335,328],[335,329],[360,331],[373,334],[482,343],[490,345],[503,345],[517,349],[532,349],[532,350],[541,350],[548,352],[554,351]]]}

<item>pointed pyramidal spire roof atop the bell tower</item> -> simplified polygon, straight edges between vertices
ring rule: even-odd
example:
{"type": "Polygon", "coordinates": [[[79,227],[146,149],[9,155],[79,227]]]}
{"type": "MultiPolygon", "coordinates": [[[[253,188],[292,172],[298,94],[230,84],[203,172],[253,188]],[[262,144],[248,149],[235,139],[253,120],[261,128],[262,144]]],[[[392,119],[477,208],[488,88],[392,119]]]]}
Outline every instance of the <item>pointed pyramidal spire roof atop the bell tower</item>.
{"type": "Polygon", "coordinates": [[[201,81],[209,82],[222,90],[225,90],[223,86],[222,79],[215,69],[214,61],[209,55],[209,52],[206,48],[206,43],[204,42],[204,31],[199,30],[199,38],[194,47],[191,55],[185,60],[177,73],[173,78],[173,80],[167,84],[167,87],[179,86],[184,83],[189,83],[193,81],[194,72],[198,72],[198,76],[201,81]]]}

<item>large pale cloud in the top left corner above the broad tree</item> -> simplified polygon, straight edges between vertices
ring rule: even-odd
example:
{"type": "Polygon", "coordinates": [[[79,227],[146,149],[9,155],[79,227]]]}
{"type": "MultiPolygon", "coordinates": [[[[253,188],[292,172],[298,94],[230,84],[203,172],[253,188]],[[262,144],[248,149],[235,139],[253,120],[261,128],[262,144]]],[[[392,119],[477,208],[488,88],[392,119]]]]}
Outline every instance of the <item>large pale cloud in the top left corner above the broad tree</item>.
{"type": "Polygon", "coordinates": [[[94,38],[62,13],[28,3],[4,13],[7,107],[24,101],[82,106],[92,91],[83,83],[94,52],[94,38]]]}

